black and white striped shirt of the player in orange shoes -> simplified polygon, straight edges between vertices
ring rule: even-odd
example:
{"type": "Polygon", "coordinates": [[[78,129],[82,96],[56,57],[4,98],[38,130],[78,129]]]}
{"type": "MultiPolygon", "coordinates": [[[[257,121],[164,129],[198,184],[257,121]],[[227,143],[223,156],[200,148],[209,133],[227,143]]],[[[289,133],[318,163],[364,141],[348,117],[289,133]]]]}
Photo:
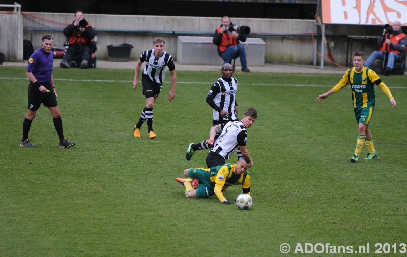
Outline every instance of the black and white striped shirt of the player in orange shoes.
{"type": "Polygon", "coordinates": [[[171,55],[163,51],[160,58],[154,56],[154,49],[144,51],[140,56],[141,62],[146,62],[146,67],[144,67],[144,74],[149,76],[149,78],[162,84],[165,77],[165,71],[168,69],[170,71],[175,70],[174,60],[171,55]]]}

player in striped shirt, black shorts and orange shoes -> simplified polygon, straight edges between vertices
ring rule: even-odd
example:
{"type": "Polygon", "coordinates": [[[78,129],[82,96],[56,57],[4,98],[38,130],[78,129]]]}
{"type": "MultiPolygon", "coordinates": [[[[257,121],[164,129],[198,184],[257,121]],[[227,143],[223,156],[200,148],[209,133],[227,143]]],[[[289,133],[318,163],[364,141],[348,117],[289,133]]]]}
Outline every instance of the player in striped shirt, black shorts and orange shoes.
{"type": "Polygon", "coordinates": [[[138,88],[138,74],[141,70],[141,64],[146,62],[141,83],[143,86],[143,94],[146,97],[146,107],[142,110],[138,123],[134,126],[134,136],[141,137],[141,125],[147,121],[149,137],[156,137],[153,132],[153,107],[157,100],[158,94],[161,91],[162,83],[164,82],[165,72],[168,70],[171,73],[171,91],[169,92],[169,101],[175,98],[175,83],[177,75],[175,72],[174,60],[171,55],[164,51],[165,42],[162,38],[155,38],[153,41],[154,49],[144,51],[136,64],[136,72],[134,75],[133,88],[138,88]]]}

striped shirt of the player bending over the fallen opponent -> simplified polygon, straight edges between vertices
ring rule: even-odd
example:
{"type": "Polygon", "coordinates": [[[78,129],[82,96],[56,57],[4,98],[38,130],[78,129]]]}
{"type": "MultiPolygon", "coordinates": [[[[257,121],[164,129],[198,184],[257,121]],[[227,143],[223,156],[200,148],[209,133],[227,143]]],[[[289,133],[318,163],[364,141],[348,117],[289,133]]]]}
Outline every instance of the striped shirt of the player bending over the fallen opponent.
{"type": "Polygon", "coordinates": [[[215,141],[211,151],[226,159],[239,147],[246,146],[247,131],[242,121],[230,121],[224,125],[222,133],[215,141]]]}

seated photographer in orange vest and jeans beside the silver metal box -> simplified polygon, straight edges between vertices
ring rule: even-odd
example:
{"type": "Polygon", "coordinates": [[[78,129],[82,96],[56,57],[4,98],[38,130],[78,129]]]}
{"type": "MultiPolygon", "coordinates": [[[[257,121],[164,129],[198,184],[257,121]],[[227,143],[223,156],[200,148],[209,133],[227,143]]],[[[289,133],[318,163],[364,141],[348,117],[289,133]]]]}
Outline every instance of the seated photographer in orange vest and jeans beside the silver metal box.
{"type": "Polygon", "coordinates": [[[247,68],[245,47],[239,44],[239,41],[246,41],[246,35],[238,34],[233,29],[230,29],[233,26],[235,25],[230,22],[229,17],[224,16],[222,25],[216,29],[212,42],[218,46],[218,54],[224,60],[223,64],[231,64],[232,59],[239,56],[242,72],[250,72],[249,68],[247,68]]]}

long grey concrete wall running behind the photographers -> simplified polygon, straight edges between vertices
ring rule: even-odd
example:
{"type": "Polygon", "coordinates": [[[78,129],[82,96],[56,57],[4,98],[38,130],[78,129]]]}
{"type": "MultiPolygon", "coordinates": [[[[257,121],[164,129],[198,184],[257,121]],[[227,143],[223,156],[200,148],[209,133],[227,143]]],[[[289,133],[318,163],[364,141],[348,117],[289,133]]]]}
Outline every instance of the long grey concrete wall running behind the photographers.
{"type": "MultiPolygon", "coordinates": [[[[74,14],[59,13],[31,13],[42,18],[54,20],[62,23],[71,23],[74,14]]],[[[120,45],[122,43],[132,44],[134,48],[131,52],[131,59],[137,60],[140,54],[152,48],[155,37],[162,37],[165,40],[165,51],[177,59],[177,36],[171,34],[172,31],[185,31],[182,35],[191,35],[187,31],[207,32],[205,36],[210,36],[221,24],[219,17],[173,17],[173,16],[135,16],[135,15],[101,15],[85,14],[96,30],[117,29],[118,31],[98,31],[96,56],[99,59],[107,59],[106,45],[120,45]],[[162,33],[130,33],[119,30],[158,30],[162,33]]],[[[231,18],[237,25],[250,26],[252,32],[265,33],[312,33],[315,30],[314,20],[289,20],[289,19],[250,19],[231,18]]],[[[49,21],[34,17],[23,18],[24,27],[59,27],[55,30],[28,30],[24,28],[24,39],[31,40],[34,48],[40,47],[41,37],[50,34],[54,38],[55,46],[63,46],[65,37],[62,29],[65,25],[55,24],[49,21]]],[[[382,26],[352,26],[352,25],[326,25],[326,34],[344,35],[379,35],[383,30],[382,26]]],[[[253,37],[253,36],[251,36],[253,37]]],[[[254,36],[257,37],[257,36],[254,36]]],[[[281,37],[281,36],[261,36],[266,42],[265,58],[271,62],[293,62],[293,63],[313,63],[313,44],[310,37],[281,37]]],[[[328,38],[329,42],[334,42],[331,48],[335,60],[342,65],[346,64],[346,51],[348,41],[343,38],[328,38]]],[[[318,50],[321,41],[318,43],[318,50]]],[[[373,50],[379,49],[374,40],[357,40],[353,43],[353,51],[362,50],[368,56],[373,50]]],[[[326,51],[325,51],[326,56],[326,51]]],[[[319,60],[319,58],[318,58],[319,60]]],[[[326,62],[327,63],[327,62],[326,62]]],[[[328,64],[328,63],[327,63],[328,64]]]]}

